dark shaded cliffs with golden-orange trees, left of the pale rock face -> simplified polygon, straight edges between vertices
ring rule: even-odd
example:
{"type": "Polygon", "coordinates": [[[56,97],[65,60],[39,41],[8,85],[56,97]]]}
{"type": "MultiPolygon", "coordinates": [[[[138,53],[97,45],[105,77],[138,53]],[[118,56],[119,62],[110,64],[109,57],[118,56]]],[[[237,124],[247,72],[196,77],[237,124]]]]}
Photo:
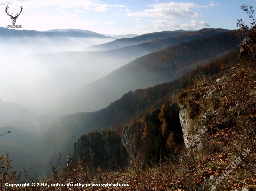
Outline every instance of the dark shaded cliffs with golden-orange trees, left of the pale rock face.
{"type": "Polygon", "coordinates": [[[182,127],[177,104],[166,105],[148,112],[141,119],[123,126],[121,137],[113,130],[90,132],[74,144],[73,157],[78,161],[85,156],[97,164],[116,161],[127,166],[131,162],[162,159],[182,146],[182,127]]]}

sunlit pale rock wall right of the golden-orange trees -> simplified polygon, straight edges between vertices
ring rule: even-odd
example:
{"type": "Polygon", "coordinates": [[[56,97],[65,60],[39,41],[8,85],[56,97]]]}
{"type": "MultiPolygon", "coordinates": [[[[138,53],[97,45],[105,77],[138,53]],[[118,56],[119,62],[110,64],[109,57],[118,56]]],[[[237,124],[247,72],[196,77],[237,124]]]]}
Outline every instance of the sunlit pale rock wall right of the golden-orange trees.
{"type": "Polygon", "coordinates": [[[213,106],[211,106],[211,104],[213,103],[211,102],[216,102],[214,99],[221,96],[216,92],[216,87],[225,87],[223,84],[225,77],[226,76],[223,76],[222,78],[217,79],[216,82],[212,82],[211,85],[206,85],[203,88],[198,87],[192,89],[192,91],[189,93],[190,96],[187,95],[186,98],[183,99],[187,100],[188,102],[200,103],[199,105],[202,111],[200,111],[201,113],[199,112],[195,118],[192,119],[192,117],[190,117],[191,112],[194,112],[193,109],[195,110],[195,108],[191,107],[184,101],[179,102],[179,116],[182,125],[183,139],[187,149],[201,149],[203,147],[202,136],[208,134],[211,120],[216,120],[220,117],[219,112],[216,113],[212,108],[213,106]],[[200,96],[198,96],[199,94],[200,96]]]}

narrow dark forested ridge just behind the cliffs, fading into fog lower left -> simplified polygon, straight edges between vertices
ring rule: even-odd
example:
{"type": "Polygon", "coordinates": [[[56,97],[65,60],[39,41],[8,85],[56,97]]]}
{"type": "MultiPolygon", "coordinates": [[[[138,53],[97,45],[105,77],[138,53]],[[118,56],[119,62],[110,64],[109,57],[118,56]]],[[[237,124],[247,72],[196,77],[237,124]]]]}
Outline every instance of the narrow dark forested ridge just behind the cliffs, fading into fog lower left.
{"type": "MultiPolygon", "coordinates": [[[[177,89],[188,87],[189,83],[193,83],[198,78],[198,75],[210,75],[216,78],[222,70],[222,64],[229,67],[230,63],[235,62],[237,54],[236,51],[230,52],[227,56],[215,59],[204,67],[199,66],[181,79],[173,82],[159,84],[147,89],[137,89],[134,92],[130,91],[124,94],[119,100],[111,103],[107,108],[97,112],[80,112],[64,116],[36,116],[31,121],[40,129],[37,134],[28,133],[27,131],[20,133],[21,130],[12,127],[10,130],[12,133],[5,135],[3,137],[4,139],[0,139],[0,147],[9,148],[8,150],[15,166],[19,165],[18,161],[24,166],[27,164],[27,159],[29,158],[37,164],[28,164],[28,167],[31,167],[31,173],[44,172],[50,168],[48,162],[55,163],[59,159],[60,153],[61,162],[65,162],[65,156],[73,153],[74,142],[82,134],[87,134],[89,131],[95,130],[101,131],[102,128],[108,132],[111,126],[115,130],[116,127],[122,126],[128,120],[127,123],[135,122],[150,110],[162,107],[162,104],[168,102],[170,96],[177,89]],[[10,144],[7,140],[10,140],[13,136],[19,136],[19,142],[10,144]],[[36,150],[34,147],[28,149],[27,144],[31,145],[34,140],[29,139],[29,136],[37,140],[40,150],[36,150]],[[16,152],[14,151],[17,151],[17,149],[24,150],[26,157],[15,155],[14,153],[16,152]]],[[[10,128],[1,128],[0,134],[3,134],[8,129],[10,128]]],[[[35,148],[37,144],[34,144],[35,148]]]]}

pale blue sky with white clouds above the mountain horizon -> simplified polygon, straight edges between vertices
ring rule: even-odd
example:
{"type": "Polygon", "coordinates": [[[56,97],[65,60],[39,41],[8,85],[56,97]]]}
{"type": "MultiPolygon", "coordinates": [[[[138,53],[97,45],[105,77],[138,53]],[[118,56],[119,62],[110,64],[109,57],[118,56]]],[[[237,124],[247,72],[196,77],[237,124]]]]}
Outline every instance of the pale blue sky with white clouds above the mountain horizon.
{"type": "Polygon", "coordinates": [[[237,29],[249,24],[240,9],[256,0],[0,0],[0,27],[12,25],[5,12],[18,16],[22,30],[86,29],[104,34],[145,34],[201,28],[237,29]]]}

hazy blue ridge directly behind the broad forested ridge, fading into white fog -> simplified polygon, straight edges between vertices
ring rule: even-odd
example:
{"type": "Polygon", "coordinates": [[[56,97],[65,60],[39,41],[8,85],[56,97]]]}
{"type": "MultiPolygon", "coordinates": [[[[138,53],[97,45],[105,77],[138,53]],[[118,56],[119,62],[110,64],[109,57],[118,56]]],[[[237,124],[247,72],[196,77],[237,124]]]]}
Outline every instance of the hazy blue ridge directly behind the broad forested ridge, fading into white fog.
{"type": "MultiPolygon", "coordinates": [[[[27,90],[27,93],[24,92],[25,97],[20,99],[22,100],[22,104],[27,105],[28,102],[30,104],[34,102],[34,104],[40,104],[42,107],[47,108],[50,107],[53,100],[56,99],[56,96],[61,93],[93,82],[138,57],[159,51],[171,45],[199,38],[209,38],[217,34],[222,34],[226,31],[227,30],[223,29],[202,29],[195,32],[186,32],[188,35],[180,34],[178,31],[176,34],[179,35],[176,37],[155,39],[139,45],[127,46],[110,51],[33,54],[24,58],[19,65],[15,64],[15,59],[3,63],[1,66],[2,70],[0,71],[0,79],[6,82],[5,86],[16,87],[16,84],[13,84],[12,81],[8,79],[13,74],[13,71],[9,70],[9,66],[13,65],[17,67],[17,73],[15,74],[16,78],[23,79],[25,75],[34,79],[34,86],[33,88],[30,87],[30,89],[37,89],[36,87],[47,87],[47,91],[40,93],[40,96],[44,96],[44,100],[34,101],[31,98],[27,99],[34,95],[34,92],[29,92],[27,90]],[[27,70],[28,68],[30,68],[30,70],[27,70]],[[33,74],[30,73],[32,69],[34,71],[33,74]],[[41,77],[39,78],[38,76],[41,77]],[[26,96],[26,94],[29,95],[26,96]],[[26,103],[24,102],[25,100],[27,100],[26,103]]],[[[160,32],[160,34],[162,33],[160,32]]],[[[156,37],[159,37],[158,34],[153,33],[153,36],[155,35],[156,37]]],[[[144,35],[141,36],[144,38],[144,35]]],[[[149,38],[150,34],[147,34],[146,36],[149,38]]],[[[139,37],[140,36],[135,38],[139,37]]],[[[55,105],[54,108],[56,107],[59,107],[58,104],[55,105]]]]}

